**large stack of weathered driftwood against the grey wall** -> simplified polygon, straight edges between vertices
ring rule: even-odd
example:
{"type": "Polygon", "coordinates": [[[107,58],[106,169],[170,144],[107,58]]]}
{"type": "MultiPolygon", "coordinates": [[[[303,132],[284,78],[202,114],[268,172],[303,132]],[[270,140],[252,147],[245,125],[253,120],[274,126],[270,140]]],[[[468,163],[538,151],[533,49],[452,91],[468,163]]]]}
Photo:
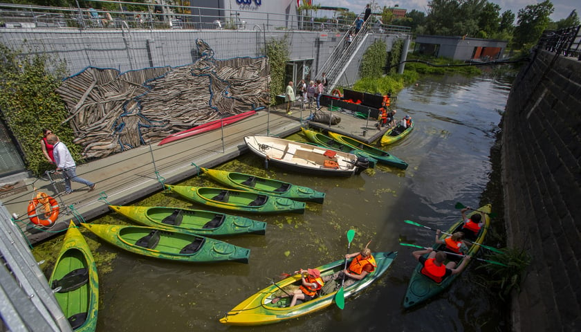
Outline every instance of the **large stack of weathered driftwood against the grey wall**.
{"type": "MultiPolygon", "coordinates": [[[[202,42],[203,43],[203,42],[202,42]]],[[[205,43],[204,43],[205,44],[205,43]]],[[[86,68],[57,89],[85,158],[158,142],[171,133],[268,102],[266,57],[216,60],[119,73],[86,68]]],[[[210,54],[210,55],[208,55],[210,54]]]]}

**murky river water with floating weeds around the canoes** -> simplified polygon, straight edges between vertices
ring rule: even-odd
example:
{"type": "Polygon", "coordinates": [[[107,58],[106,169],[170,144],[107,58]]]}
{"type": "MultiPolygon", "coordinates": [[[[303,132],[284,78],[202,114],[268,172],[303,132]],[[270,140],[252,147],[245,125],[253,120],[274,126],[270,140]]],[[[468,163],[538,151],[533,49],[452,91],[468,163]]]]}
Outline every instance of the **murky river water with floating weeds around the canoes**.
{"type": "MultiPolygon", "coordinates": [[[[263,160],[251,154],[221,165],[218,168],[313,187],[326,192],[325,202],[308,203],[302,215],[250,216],[268,222],[266,235],[225,239],[251,249],[249,264],[178,264],[103,244],[99,250],[118,256],[111,261],[112,272],[100,275],[98,331],[502,331],[499,299],[486,285],[472,282],[478,262],[470,264],[448,291],[404,310],[403,297],[416,261],[412,248],[399,246],[398,241],[430,246],[434,240],[433,231],[404,223],[405,219],[445,230],[460,217],[455,203],[473,207],[489,203],[480,197],[492,169],[490,148],[509,90],[508,78],[485,74],[427,78],[401,91],[394,108],[400,117],[412,116],[415,129],[389,152],[409,163],[405,171],[378,166],[351,178],[313,178],[273,167],[265,170],[263,160]],[[371,240],[372,250],[399,255],[378,282],[347,299],[343,311],[333,306],[261,327],[219,323],[230,308],[270,280],[279,280],[281,273],[341,259],[351,228],[356,230],[351,252],[371,240]]],[[[192,178],[183,184],[211,183],[192,178]]],[[[203,209],[167,193],[136,205],[152,202],[203,209]]],[[[111,214],[96,222],[128,221],[111,214]]]]}

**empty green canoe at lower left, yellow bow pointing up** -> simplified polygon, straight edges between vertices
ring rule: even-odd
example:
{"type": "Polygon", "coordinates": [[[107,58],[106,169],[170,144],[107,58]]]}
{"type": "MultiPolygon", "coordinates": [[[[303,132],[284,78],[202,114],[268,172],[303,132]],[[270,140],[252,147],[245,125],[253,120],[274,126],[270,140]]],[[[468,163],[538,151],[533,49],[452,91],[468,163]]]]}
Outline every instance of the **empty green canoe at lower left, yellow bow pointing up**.
{"type": "Polygon", "coordinates": [[[71,220],[48,280],[73,331],[95,331],[99,306],[97,266],[89,246],[71,220]]]}

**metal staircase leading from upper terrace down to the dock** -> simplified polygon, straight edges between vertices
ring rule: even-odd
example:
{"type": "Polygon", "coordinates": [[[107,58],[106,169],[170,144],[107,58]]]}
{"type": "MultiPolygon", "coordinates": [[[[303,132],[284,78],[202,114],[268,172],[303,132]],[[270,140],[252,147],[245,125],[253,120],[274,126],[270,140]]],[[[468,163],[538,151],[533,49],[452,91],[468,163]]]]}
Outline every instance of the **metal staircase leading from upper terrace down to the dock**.
{"type": "Polygon", "coordinates": [[[321,77],[322,73],[326,73],[327,80],[329,84],[326,88],[327,93],[333,91],[335,86],[337,86],[337,82],[339,82],[339,78],[344,74],[345,70],[351,63],[351,60],[355,55],[358,53],[359,48],[365,44],[365,39],[367,39],[367,31],[368,23],[370,20],[367,20],[363,23],[361,30],[359,33],[353,36],[353,41],[350,45],[347,45],[347,33],[344,33],[342,39],[338,42],[335,49],[329,55],[329,58],[326,59],[326,62],[321,66],[319,71],[317,71],[317,75],[315,77],[321,77]]]}

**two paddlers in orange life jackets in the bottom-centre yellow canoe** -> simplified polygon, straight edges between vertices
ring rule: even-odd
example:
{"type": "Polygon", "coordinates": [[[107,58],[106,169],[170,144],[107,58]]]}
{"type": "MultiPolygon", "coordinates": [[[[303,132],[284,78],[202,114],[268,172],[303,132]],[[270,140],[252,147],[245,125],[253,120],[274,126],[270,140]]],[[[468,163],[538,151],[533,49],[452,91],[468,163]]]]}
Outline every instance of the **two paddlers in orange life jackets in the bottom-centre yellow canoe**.
{"type": "Polygon", "coordinates": [[[327,275],[321,277],[321,271],[316,268],[308,268],[306,270],[299,270],[295,273],[301,273],[301,285],[298,289],[291,293],[284,293],[279,297],[275,297],[272,300],[273,304],[276,304],[282,297],[293,297],[291,299],[290,306],[295,306],[297,301],[300,299],[303,302],[310,301],[315,298],[317,293],[327,282],[341,281],[342,286],[349,286],[358,280],[365,278],[365,276],[375,270],[377,263],[373,255],[371,255],[371,250],[369,249],[369,241],[365,248],[360,252],[353,252],[351,254],[345,255],[345,259],[351,259],[351,264],[349,267],[340,270],[333,275],[327,275]]]}

